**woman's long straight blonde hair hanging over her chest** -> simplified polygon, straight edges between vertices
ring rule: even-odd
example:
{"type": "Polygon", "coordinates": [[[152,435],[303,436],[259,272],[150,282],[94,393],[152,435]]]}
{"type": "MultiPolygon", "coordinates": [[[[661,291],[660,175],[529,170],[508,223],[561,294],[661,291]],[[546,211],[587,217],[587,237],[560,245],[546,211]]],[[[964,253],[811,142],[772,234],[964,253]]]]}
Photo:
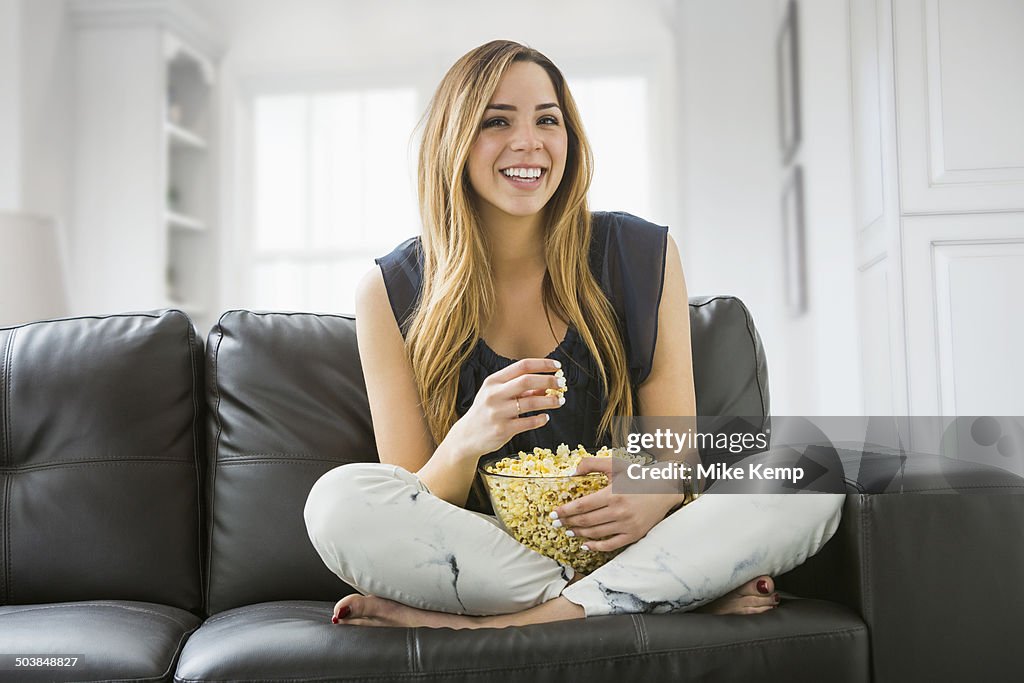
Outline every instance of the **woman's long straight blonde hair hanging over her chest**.
{"type": "Polygon", "coordinates": [[[418,182],[423,289],[406,337],[420,402],[434,442],[440,443],[458,419],[460,369],[495,308],[490,261],[466,164],[484,110],[517,61],[537,63],[551,77],[568,133],[565,172],[545,210],[545,306],[577,329],[594,356],[607,396],[597,436],[617,441],[626,421],[613,418],[633,415],[633,394],[614,310],[588,262],[590,144],[558,68],[537,50],[511,41],[492,41],[460,58],[427,110],[418,182]]]}

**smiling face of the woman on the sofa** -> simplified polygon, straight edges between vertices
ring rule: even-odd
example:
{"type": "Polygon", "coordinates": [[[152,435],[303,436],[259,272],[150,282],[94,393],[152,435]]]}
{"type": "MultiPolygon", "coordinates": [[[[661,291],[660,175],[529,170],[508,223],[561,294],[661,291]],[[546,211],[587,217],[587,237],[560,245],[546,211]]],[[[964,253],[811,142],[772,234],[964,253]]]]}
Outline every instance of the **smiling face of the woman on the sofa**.
{"type": "Polygon", "coordinates": [[[565,172],[568,134],[544,68],[509,67],[469,152],[469,182],[484,223],[538,214],[565,172]]]}

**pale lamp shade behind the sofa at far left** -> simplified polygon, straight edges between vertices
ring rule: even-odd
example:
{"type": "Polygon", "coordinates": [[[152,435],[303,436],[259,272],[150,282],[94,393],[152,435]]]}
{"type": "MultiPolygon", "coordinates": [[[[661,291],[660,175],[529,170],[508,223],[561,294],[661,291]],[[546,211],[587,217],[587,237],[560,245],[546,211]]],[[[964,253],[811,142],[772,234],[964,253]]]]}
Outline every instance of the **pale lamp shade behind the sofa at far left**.
{"type": "Polygon", "coordinates": [[[67,314],[56,223],[0,211],[0,326],[67,314]]]}

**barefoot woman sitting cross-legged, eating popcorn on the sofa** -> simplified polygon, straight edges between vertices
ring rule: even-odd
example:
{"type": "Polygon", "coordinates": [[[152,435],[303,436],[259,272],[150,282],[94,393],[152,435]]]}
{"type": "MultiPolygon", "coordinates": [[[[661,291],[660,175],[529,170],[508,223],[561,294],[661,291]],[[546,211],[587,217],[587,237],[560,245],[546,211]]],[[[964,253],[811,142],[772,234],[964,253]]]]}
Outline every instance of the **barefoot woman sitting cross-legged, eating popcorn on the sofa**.
{"type": "Polygon", "coordinates": [[[616,415],[695,415],[676,245],[632,216],[591,215],[591,168],[572,97],[540,52],[494,41],[441,81],[420,152],[422,238],[378,259],[357,294],[381,464],[328,472],[305,509],[321,557],[362,593],[335,605],[335,623],[757,613],[778,602],[770,574],[835,531],[842,497],[705,496],[673,512],[679,494],[605,488],[556,511],[591,550],[630,546],[583,577],[466,509],[485,509],[481,456],[607,443],[616,415]],[[548,396],[559,368],[569,390],[548,396]]]}

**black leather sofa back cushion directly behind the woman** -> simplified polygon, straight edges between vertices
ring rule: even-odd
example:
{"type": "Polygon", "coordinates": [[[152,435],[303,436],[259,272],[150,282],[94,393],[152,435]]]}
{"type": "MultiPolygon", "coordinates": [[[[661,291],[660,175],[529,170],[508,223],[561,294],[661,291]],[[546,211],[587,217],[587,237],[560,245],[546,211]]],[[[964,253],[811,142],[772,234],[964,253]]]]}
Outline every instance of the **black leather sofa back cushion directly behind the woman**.
{"type": "MultiPolygon", "coordinates": [[[[690,299],[701,415],[767,416],[761,340],[734,297],[690,299]]],[[[351,316],[224,313],[207,344],[208,604],[336,600],[351,589],[321,561],[302,509],[328,470],[377,462],[351,316]]]]}

